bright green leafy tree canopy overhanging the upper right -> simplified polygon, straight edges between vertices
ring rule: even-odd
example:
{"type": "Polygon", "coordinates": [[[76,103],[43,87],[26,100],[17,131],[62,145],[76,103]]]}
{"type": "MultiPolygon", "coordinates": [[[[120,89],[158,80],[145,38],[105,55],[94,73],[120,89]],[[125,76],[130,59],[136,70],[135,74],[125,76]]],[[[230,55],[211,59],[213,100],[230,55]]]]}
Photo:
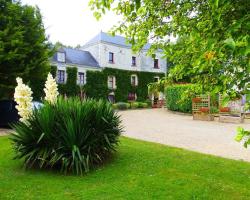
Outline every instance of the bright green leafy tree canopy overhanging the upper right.
{"type": "Polygon", "coordinates": [[[123,16],[112,33],[150,54],[161,48],[175,67],[170,79],[190,77],[200,92],[245,93],[250,82],[250,4],[246,0],[90,0],[96,18],[123,16]],[[177,37],[174,43],[168,37],[177,37]]]}

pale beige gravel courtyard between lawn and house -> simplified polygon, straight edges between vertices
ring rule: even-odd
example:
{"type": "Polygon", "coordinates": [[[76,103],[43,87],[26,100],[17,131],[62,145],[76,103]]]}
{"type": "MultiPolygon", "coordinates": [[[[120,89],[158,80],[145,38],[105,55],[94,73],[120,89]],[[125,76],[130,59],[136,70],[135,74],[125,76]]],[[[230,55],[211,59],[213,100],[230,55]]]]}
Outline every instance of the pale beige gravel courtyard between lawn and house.
{"type": "Polygon", "coordinates": [[[250,162],[250,149],[234,140],[236,128],[250,129],[249,122],[194,121],[192,116],[174,114],[166,109],[121,111],[120,115],[127,137],[250,162]]]}

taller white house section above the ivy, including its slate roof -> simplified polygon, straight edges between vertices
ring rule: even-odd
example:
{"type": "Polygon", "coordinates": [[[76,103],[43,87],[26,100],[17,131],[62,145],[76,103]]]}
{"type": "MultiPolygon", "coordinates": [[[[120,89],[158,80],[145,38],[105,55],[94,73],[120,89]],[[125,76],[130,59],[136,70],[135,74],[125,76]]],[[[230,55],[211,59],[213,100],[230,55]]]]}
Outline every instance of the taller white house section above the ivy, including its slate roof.
{"type": "Polygon", "coordinates": [[[81,49],[90,52],[101,68],[166,73],[167,60],[162,58],[161,51],[153,59],[146,55],[149,48],[150,44],[146,44],[139,53],[133,53],[124,37],[100,32],[81,49]]]}

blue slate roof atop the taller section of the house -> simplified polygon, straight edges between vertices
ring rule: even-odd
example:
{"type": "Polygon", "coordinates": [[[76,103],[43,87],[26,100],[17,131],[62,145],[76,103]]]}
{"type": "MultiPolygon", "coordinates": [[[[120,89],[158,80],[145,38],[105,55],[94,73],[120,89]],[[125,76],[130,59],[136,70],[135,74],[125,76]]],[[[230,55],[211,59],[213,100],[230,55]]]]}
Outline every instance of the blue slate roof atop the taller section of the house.
{"type": "MultiPolygon", "coordinates": [[[[85,45],[89,45],[89,44],[94,44],[94,43],[98,43],[98,42],[107,42],[107,43],[111,43],[111,44],[116,44],[119,46],[124,46],[124,47],[129,47],[131,48],[131,44],[129,44],[126,41],[125,37],[116,35],[116,36],[112,36],[109,35],[108,33],[105,32],[100,32],[98,35],[96,35],[95,37],[93,37],[91,40],[89,40],[85,45]]],[[[150,43],[147,43],[144,47],[143,50],[148,50],[150,48],[150,43]]]]}

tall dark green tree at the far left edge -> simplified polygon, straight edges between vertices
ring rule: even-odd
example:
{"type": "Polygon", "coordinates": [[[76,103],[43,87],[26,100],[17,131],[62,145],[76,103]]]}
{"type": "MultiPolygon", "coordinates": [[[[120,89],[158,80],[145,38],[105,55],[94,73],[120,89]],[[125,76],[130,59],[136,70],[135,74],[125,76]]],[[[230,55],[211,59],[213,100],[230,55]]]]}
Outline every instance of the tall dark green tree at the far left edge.
{"type": "Polygon", "coordinates": [[[38,8],[0,0],[0,98],[13,98],[16,77],[38,99],[43,94],[52,48],[38,8]]]}

